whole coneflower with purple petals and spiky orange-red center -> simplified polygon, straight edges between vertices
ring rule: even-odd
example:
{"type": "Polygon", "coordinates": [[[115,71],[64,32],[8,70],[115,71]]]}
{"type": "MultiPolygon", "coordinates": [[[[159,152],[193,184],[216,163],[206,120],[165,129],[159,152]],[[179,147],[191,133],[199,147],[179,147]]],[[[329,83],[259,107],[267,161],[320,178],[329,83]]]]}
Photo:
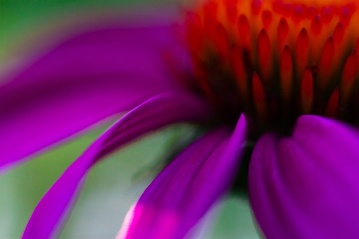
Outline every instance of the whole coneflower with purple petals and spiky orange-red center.
{"type": "Polygon", "coordinates": [[[184,237],[230,187],[249,142],[250,202],[266,237],[358,237],[357,10],[350,1],[208,0],[176,27],[92,31],[9,74],[2,168],[133,108],[49,189],[23,237],[53,235],[98,160],[181,121],[208,133],[159,173],[119,237],[184,237]]]}

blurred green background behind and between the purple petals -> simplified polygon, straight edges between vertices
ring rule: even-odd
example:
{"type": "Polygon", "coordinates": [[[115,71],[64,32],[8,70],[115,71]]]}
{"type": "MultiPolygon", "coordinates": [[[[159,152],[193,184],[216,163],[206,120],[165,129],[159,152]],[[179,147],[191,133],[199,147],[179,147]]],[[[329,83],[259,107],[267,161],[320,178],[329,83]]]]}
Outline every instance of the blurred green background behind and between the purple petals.
{"type": "MultiPolygon", "coordinates": [[[[0,1],[0,72],[51,32],[168,0],[0,1]]],[[[173,1],[172,1],[173,2],[173,1]]],[[[0,176],[0,238],[19,238],[32,210],[65,168],[110,124],[91,129],[0,176]]],[[[114,238],[128,208],[162,167],[171,142],[188,137],[193,126],[175,125],[150,134],[98,163],[60,238],[114,238]]],[[[201,238],[258,238],[248,200],[231,195],[204,220],[201,238]]]]}

